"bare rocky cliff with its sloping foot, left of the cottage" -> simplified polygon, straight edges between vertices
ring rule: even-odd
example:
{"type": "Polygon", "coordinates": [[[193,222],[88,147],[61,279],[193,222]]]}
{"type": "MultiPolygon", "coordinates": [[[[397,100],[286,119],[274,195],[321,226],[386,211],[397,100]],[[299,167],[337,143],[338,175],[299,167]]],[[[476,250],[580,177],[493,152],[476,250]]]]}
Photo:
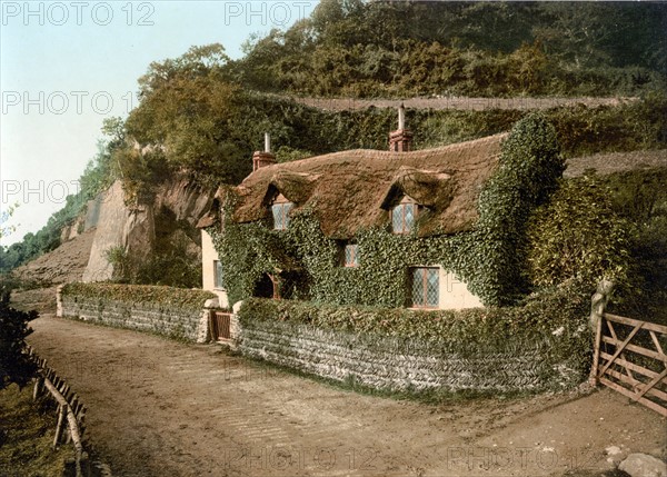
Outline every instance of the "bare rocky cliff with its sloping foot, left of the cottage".
{"type": "Polygon", "coordinates": [[[119,275],[109,264],[110,249],[122,252],[130,264],[146,264],[156,255],[169,257],[171,252],[183,268],[198,268],[201,237],[196,225],[210,208],[213,193],[178,176],[158,188],[151,203],[128,207],[122,185],[116,181],[62,230],[60,247],[13,274],[43,285],[108,280],[119,275]]]}

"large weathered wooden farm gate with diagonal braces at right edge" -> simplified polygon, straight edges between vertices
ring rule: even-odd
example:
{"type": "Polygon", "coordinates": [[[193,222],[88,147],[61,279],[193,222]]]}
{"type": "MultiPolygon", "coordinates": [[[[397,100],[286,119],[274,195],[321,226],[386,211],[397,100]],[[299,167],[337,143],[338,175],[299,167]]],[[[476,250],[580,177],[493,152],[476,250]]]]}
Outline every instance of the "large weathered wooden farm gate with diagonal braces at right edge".
{"type": "Polygon", "coordinates": [[[603,312],[591,384],[601,382],[667,417],[667,326],[603,312]]]}

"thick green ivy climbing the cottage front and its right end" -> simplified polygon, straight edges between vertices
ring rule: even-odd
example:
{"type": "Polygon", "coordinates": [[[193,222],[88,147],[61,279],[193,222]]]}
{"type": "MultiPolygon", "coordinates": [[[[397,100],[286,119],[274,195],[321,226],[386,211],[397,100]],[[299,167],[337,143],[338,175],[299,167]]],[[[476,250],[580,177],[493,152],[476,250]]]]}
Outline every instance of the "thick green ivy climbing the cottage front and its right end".
{"type": "MultiPolygon", "coordinates": [[[[465,280],[485,305],[506,305],[527,290],[524,228],[531,211],[557,188],[564,170],[555,129],[539,116],[517,122],[499,167],[479,200],[475,230],[456,235],[392,235],[369,228],[355,237],[359,267],[340,266],[342,244],[326,237],[313,210],[295,211],[287,230],[269,220],[227,219],[207,229],[222,262],[230,302],[253,295],[265,274],[281,270],[281,296],[332,305],[400,308],[408,302],[408,268],[441,266],[465,280]]],[[[233,190],[225,207],[235,208],[233,190]]]]}

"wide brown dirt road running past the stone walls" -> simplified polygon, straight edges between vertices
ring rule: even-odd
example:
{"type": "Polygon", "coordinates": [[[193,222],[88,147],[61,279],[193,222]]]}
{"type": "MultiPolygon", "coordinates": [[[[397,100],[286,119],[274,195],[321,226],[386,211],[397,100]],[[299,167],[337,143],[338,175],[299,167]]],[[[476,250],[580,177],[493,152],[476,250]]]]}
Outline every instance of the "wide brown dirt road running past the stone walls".
{"type": "Polygon", "coordinates": [[[608,390],[427,406],[216,345],[52,315],[32,327],[29,341],[82,397],[91,443],[117,476],[589,475],[610,468],[611,445],[666,454],[666,420],[608,390]]]}

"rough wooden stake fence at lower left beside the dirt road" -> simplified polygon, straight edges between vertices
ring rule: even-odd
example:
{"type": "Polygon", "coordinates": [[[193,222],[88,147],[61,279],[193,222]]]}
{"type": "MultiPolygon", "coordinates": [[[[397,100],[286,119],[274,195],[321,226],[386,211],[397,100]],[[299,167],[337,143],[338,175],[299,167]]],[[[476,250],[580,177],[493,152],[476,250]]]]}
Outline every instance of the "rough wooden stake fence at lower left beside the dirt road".
{"type": "Polygon", "coordinates": [[[90,477],[90,459],[83,448],[86,407],[64,379],[48,366],[46,359],[40,358],[31,347],[28,347],[28,354],[39,368],[32,398],[38,399],[47,391],[57,405],[58,424],[53,436],[53,447],[60,444],[72,444],[74,448],[74,459],[64,463],[63,476],[90,477]]]}

